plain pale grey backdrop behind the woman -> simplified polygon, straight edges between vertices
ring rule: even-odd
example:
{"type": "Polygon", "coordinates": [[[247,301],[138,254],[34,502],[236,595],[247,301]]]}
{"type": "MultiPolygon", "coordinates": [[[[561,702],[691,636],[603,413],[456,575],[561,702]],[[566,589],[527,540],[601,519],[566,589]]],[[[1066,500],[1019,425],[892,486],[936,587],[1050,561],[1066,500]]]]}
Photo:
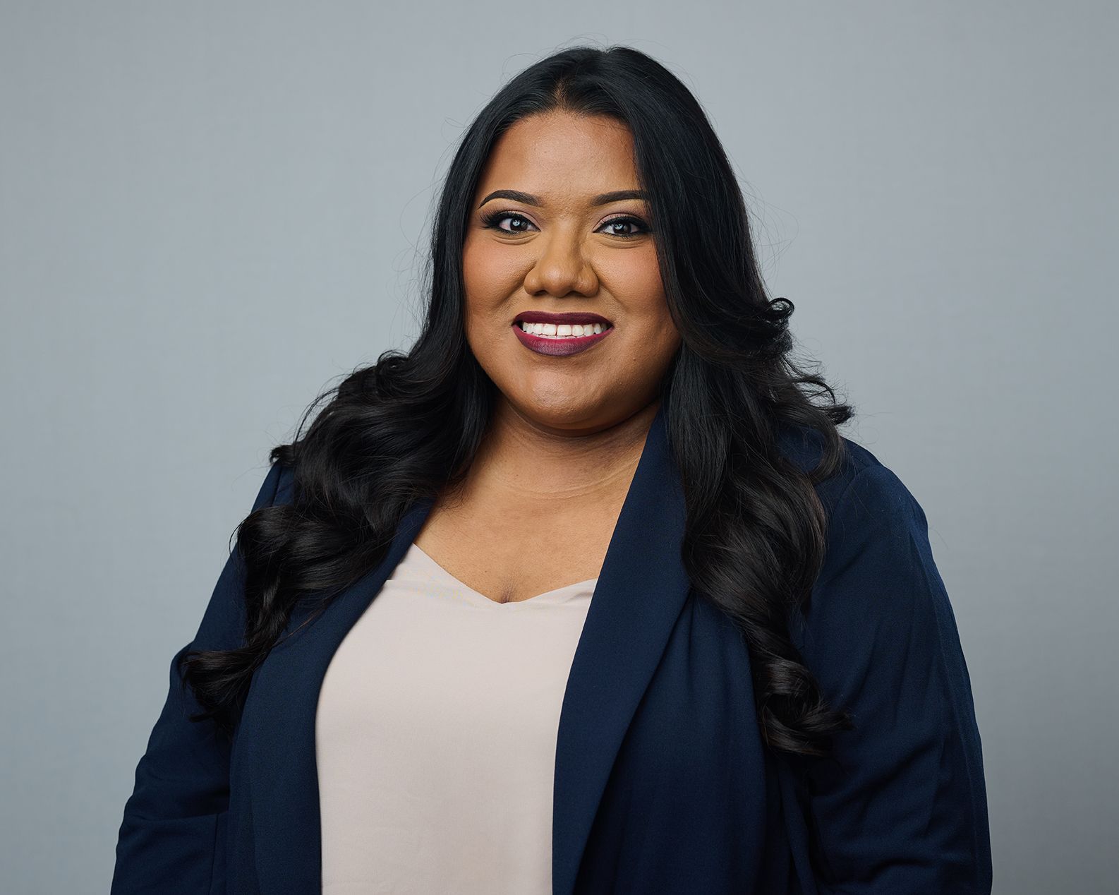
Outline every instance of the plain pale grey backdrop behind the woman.
{"type": "Polygon", "coordinates": [[[107,889],[269,448],[411,343],[463,125],[584,41],[696,92],[846,433],[925,509],[996,892],[1113,891],[1113,4],[393,7],[0,6],[4,891],[107,889]]]}

